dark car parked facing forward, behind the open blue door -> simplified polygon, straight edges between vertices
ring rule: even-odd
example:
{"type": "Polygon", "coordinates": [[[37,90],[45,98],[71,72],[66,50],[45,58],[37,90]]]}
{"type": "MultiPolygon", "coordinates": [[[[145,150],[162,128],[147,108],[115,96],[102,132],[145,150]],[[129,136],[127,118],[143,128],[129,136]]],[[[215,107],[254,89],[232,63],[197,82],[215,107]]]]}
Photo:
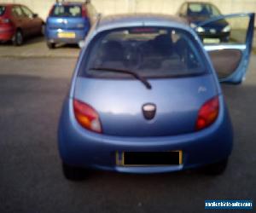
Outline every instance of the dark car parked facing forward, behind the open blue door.
{"type": "Polygon", "coordinates": [[[183,3],[177,14],[188,20],[190,26],[195,28],[204,43],[228,42],[230,39],[231,27],[226,20],[219,20],[204,27],[197,27],[200,22],[221,15],[219,9],[212,3],[183,3]]]}

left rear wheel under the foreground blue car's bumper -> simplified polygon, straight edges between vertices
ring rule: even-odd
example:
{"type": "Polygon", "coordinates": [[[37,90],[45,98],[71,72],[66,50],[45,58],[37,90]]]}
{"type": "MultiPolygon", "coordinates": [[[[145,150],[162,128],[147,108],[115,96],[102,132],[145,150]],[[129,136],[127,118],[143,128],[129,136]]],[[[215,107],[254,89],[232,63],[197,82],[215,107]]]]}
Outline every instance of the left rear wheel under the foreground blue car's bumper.
{"type": "Polygon", "coordinates": [[[65,163],[62,163],[62,170],[69,181],[83,181],[88,176],[88,170],[65,163]]]}

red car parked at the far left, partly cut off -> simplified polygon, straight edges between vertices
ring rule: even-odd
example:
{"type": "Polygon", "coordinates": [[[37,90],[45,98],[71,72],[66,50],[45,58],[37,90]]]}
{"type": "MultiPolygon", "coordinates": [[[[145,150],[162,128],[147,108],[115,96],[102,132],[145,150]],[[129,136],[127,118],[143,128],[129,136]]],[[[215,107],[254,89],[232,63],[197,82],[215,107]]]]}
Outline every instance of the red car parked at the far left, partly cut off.
{"type": "Polygon", "coordinates": [[[12,40],[17,46],[24,38],[44,32],[44,20],[21,4],[0,4],[0,41],[12,40]]]}

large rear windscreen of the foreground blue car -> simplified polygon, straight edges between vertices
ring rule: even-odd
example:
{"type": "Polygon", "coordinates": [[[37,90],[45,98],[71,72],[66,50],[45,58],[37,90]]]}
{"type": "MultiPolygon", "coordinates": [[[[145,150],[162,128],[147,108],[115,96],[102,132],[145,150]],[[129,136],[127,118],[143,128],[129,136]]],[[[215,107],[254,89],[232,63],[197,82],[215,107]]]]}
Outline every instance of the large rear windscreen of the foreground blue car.
{"type": "Polygon", "coordinates": [[[80,70],[90,78],[131,78],[111,69],[129,70],[145,78],[204,74],[201,47],[183,30],[132,27],[100,33],[90,43],[80,70]],[[104,71],[105,68],[105,71],[104,71]]]}

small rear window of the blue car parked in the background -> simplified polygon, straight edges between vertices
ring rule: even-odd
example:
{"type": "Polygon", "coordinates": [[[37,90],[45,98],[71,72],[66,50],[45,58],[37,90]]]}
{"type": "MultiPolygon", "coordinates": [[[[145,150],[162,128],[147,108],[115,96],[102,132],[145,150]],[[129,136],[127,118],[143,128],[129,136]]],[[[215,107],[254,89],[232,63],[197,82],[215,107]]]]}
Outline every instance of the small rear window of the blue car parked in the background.
{"type": "Polygon", "coordinates": [[[81,17],[82,9],[79,5],[56,5],[50,16],[54,17],[81,17]]]}

